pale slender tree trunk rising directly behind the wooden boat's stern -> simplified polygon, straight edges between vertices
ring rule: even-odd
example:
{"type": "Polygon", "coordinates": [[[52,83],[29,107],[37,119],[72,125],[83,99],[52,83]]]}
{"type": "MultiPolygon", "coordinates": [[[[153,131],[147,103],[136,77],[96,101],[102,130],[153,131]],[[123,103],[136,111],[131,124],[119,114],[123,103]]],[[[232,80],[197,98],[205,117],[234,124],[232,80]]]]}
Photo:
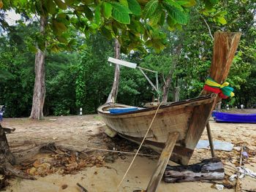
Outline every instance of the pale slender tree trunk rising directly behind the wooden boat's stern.
{"type": "MultiPolygon", "coordinates": [[[[119,58],[120,57],[120,44],[117,39],[115,42],[115,52],[116,52],[116,58],[119,58]]],[[[116,64],[113,86],[112,86],[111,92],[108,96],[108,100],[106,101],[106,103],[110,103],[110,102],[114,103],[116,101],[116,96],[118,93],[118,86],[119,86],[119,78],[120,78],[120,67],[118,64],[116,64]]]]}

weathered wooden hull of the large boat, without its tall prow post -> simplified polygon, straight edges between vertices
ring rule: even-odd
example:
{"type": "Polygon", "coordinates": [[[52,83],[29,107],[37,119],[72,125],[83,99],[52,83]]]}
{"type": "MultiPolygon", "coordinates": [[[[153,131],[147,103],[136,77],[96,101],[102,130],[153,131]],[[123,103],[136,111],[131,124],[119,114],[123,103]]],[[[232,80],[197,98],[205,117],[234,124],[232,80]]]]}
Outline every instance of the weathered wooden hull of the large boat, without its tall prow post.
{"type": "Polygon", "coordinates": [[[165,146],[167,136],[173,132],[178,132],[179,137],[171,155],[171,160],[178,164],[188,164],[206,127],[208,118],[211,116],[215,98],[203,96],[161,106],[158,111],[157,107],[151,107],[120,114],[110,114],[108,111],[113,107],[130,106],[105,104],[98,108],[98,113],[106,125],[121,137],[140,143],[157,111],[143,145],[160,153],[165,146]]]}

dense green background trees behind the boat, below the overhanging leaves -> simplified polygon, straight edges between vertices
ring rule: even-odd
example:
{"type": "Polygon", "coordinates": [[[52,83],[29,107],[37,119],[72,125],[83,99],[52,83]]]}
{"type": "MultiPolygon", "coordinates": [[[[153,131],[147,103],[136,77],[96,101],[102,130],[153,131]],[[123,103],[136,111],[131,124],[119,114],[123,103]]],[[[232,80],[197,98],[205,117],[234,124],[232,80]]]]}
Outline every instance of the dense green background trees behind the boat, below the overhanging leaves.
{"type": "MultiPolygon", "coordinates": [[[[146,51],[140,49],[121,57],[158,71],[162,87],[171,72],[168,101],[173,101],[176,87],[181,89],[180,99],[188,99],[200,93],[211,64],[213,39],[208,30],[212,34],[218,30],[241,31],[238,53],[227,80],[235,88],[236,96],[224,102],[252,107],[256,104],[255,3],[222,1],[216,8],[219,12],[213,10],[214,15],[205,13],[205,18],[196,8],[192,9],[189,23],[178,31],[170,31],[171,25],[162,26],[159,36],[164,34],[167,38],[161,42],[159,50],[165,45],[164,50],[156,51],[151,47],[156,47],[157,42],[147,42],[146,51]],[[219,18],[216,18],[217,14],[219,18]],[[224,15],[226,20],[222,19],[224,15]],[[216,19],[219,19],[218,23],[216,19]]],[[[9,117],[30,115],[35,58],[31,53],[33,47],[28,45],[38,28],[37,22],[26,26],[18,23],[9,31],[1,31],[0,104],[7,105],[6,115],[9,117]]],[[[114,55],[113,40],[100,33],[85,37],[75,29],[69,29],[68,33],[78,43],[70,50],[56,50],[57,53],[48,50],[46,55],[45,115],[75,115],[80,107],[83,107],[83,113],[94,113],[110,93],[114,66],[107,60],[108,56],[114,55]]],[[[154,80],[153,74],[148,76],[154,80]]],[[[151,101],[154,94],[143,74],[136,69],[121,67],[118,102],[141,106],[151,101]]]]}

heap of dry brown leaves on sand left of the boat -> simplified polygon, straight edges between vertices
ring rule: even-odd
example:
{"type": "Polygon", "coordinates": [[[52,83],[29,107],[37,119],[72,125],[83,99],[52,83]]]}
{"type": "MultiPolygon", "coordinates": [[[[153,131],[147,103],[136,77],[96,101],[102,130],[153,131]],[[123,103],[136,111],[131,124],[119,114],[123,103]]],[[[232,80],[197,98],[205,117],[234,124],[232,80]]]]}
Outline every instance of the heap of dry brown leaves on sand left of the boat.
{"type": "Polygon", "coordinates": [[[32,164],[23,163],[20,169],[27,174],[46,176],[58,172],[59,174],[76,174],[83,168],[91,166],[104,166],[105,157],[102,155],[88,155],[83,152],[66,149],[50,143],[41,147],[40,151],[50,152],[32,164]]]}

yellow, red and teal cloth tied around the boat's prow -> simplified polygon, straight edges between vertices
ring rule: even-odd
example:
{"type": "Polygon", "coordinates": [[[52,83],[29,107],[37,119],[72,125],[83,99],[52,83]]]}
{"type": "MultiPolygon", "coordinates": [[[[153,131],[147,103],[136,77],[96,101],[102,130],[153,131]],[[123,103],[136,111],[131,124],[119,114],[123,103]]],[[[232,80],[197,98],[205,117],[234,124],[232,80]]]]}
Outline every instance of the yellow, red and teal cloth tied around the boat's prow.
{"type": "Polygon", "coordinates": [[[228,97],[235,96],[235,93],[233,93],[234,89],[228,85],[228,82],[219,84],[218,82],[211,79],[211,77],[208,77],[206,79],[203,89],[206,91],[211,91],[213,93],[218,93],[222,99],[227,99],[228,97]]]}

